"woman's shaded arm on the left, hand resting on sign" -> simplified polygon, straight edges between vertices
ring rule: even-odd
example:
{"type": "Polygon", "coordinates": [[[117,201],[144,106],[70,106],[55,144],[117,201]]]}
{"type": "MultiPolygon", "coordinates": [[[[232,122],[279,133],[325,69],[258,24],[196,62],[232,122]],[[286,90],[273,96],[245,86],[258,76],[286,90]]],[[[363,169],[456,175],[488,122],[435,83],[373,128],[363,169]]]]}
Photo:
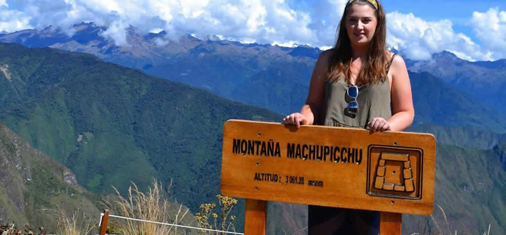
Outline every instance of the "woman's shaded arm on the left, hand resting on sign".
{"type": "Polygon", "coordinates": [[[313,74],[311,75],[306,104],[302,107],[300,113],[292,113],[283,118],[285,124],[292,124],[299,127],[301,125],[312,125],[314,123],[315,114],[319,112],[323,102],[328,59],[331,53],[331,50],[327,50],[322,52],[318,57],[313,74]]]}

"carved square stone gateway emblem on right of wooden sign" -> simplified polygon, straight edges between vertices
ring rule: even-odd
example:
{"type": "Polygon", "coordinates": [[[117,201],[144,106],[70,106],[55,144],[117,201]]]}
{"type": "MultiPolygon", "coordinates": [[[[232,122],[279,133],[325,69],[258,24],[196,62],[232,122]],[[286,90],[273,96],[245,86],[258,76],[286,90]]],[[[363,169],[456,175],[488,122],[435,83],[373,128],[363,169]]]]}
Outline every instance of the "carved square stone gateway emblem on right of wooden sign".
{"type": "Polygon", "coordinates": [[[423,151],[413,148],[370,146],[367,194],[419,200],[423,151]]]}

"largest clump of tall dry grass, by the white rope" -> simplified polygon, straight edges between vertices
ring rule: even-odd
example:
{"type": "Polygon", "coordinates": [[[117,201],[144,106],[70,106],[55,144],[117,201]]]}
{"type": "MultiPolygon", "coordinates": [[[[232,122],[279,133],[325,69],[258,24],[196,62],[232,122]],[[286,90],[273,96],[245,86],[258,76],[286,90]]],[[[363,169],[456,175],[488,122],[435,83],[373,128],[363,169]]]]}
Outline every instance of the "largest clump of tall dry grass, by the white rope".
{"type": "MultiPolygon", "coordinates": [[[[172,182],[168,189],[171,185],[172,182]]],[[[169,211],[170,203],[165,197],[161,182],[156,179],[153,179],[152,187],[148,188],[147,193],[139,191],[139,188],[133,182],[132,186],[129,187],[126,198],[122,197],[116,188],[114,190],[117,194],[115,209],[123,217],[179,224],[189,211],[189,209],[183,210],[182,205],[180,205],[177,213],[171,215],[169,211]]],[[[118,223],[118,226],[124,235],[176,235],[185,233],[181,229],[178,232],[176,226],[133,220],[122,221],[118,223]]]]}

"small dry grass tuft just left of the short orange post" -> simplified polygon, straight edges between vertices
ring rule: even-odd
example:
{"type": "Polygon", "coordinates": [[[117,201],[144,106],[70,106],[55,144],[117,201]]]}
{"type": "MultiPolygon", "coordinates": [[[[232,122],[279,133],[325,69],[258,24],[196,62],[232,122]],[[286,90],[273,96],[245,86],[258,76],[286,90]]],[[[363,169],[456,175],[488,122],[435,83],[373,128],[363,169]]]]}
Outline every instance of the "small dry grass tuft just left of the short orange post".
{"type": "Polygon", "coordinates": [[[59,234],[87,235],[92,233],[91,230],[98,223],[98,221],[93,221],[85,213],[79,213],[79,210],[75,211],[70,217],[61,209],[54,212],[56,212],[59,234]]]}

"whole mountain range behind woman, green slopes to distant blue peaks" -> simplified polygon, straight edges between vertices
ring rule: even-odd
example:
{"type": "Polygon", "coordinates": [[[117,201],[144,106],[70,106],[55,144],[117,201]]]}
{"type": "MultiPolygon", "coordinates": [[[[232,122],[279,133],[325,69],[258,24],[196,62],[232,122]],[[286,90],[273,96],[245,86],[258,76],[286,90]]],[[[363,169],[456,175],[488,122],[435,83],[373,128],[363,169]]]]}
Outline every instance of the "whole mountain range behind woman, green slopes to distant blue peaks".
{"type": "MultiPolygon", "coordinates": [[[[124,188],[130,180],[146,186],[151,176],[174,178],[178,201],[193,211],[218,193],[223,122],[279,121],[297,111],[321,52],[189,35],[164,41],[163,31],[139,35],[135,28],[128,31],[134,46],[117,46],[100,36],[100,27],[75,27],[80,30],[72,37],[51,28],[0,36],[31,47],[85,52],[0,44],[0,122],[74,171],[92,192],[107,192],[111,184],[124,188]]],[[[410,130],[438,136],[436,202],[458,234],[479,233],[488,223],[501,234],[504,114],[423,69],[410,72],[410,79],[416,110],[410,130]]],[[[271,208],[283,216],[268,225],[269,234],[303,230],[305,206],[271,208]]],[[[404,231],[412,232],[431,223],[409,215],[404,221],[404,231]]]]}

